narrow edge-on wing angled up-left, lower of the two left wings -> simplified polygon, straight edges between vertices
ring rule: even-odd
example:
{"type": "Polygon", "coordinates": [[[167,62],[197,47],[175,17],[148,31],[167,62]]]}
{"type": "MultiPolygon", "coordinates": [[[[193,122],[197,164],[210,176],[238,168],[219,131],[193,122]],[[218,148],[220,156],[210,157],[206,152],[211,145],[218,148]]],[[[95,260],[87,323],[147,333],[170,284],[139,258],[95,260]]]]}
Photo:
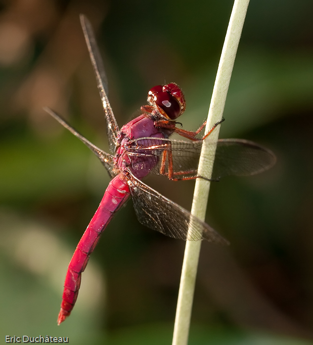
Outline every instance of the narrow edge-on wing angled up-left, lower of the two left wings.
{"type": "Polygon", "coordinates": [[[113,173],[113,156],[102,151],[95,145],[93,145],[89,140],[87,140],[82,134],[80,134],[76,129],[70,126],[64,119],[61,118],[60,115],[55,113],[48,107],[45,107],[44,110],[51,115],[56,121],[58,121],[63,127],[68,129],[72,134],[74,134],[77,138],[79,138],[83,143],[89,147],[89,149],[99,158],[103,166],[106,168],[107,172],[111,177],[115,176],[113,173]]]}

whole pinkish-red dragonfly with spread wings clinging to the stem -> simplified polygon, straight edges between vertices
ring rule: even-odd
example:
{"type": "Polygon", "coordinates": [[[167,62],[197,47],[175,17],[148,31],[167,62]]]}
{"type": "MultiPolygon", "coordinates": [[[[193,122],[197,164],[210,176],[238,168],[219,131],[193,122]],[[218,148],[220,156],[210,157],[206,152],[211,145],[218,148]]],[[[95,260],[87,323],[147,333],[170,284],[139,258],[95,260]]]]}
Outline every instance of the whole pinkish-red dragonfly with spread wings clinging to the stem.
{"type": "Polygon", "coordinates": [[[243,176],[264,172],[276,160],[270,150],[252,141],[220,139],[210,142],[208,136],[223,120],[201,138],[197,136],[206,122],[196,131],[178,127],[181,124],[176,120],[184,112],[186,102],[182,90],[175,83],[152,87],[148,92],[148,105],[140,108],[141,114],[119,129],[108,100],[107,79],[91,24],[84,15],[80,19],[102,101],[112,154],[92,144],[50,108],[45,108],[45,111],[89,147],[112,179],[69,263],[58,325],[70,315],[74,307],[82,272],[103,230],[130,196],[139,222],[153,230],[185,241],[207,240],[228,244],[210,225],[142,182],[143,177],[156,173],[173,181],[196,178],[218,181],[227,175],[243,176]],[[170,136],[173,133],[189,141],[172,140],[170,136]],[[208,164],[212,164],[214,159],[210,178],[197,172],[205,139],[207,144],[216,149],[215,158],[204,158],[208,164]]]}

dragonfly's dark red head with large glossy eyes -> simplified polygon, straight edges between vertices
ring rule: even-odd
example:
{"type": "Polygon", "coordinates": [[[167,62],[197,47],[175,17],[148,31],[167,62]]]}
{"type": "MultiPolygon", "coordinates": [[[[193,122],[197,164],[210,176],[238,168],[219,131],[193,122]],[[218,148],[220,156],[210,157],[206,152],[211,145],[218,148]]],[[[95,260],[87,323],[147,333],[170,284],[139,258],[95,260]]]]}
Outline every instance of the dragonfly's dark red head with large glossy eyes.
{"type": "Polygon", "coordinates": [[[185,97],[175,83],[152,87],[147,100],[169,120],[176,120],[186,109],[185,97]]]}

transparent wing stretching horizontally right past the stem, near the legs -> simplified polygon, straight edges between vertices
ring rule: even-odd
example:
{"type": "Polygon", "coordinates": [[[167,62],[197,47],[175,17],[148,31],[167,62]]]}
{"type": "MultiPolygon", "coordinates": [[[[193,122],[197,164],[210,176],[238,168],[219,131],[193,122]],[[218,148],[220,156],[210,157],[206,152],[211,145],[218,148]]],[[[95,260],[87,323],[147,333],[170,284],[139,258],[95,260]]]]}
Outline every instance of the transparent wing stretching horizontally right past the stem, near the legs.
{"type": "MultiPolygon", "coordinates": [[[[156,139],[151,137],[134,139],[126,146],[130,152],[132,163],[138,164],[148,158],[155,157],[156,165],[152,173],[169,175],[173,171],[174,177],[196,177],[199,157],[203,141],[183,141],[170,139],[156,139]]],[[[242,139],[220,139],[218,142],[207,142],[213,155],[204,157],[206,164],[211,165],[214,160],[212,180],[219,180],[228,175],[245,176],[262,173],[276,162],[275,155],[265,147],[252,141],[242,139]]],[[[210,151],[210,150],[209,150],[210,151]]]]}

